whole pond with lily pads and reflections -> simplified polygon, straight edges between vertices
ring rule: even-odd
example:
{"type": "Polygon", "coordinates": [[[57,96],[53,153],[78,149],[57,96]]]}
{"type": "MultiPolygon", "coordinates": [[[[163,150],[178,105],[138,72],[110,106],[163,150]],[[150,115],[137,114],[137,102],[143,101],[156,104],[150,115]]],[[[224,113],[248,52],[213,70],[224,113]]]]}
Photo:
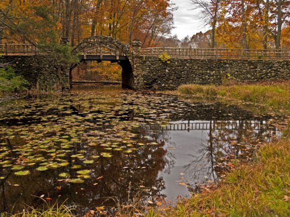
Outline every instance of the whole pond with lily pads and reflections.
{"type": "Polygon", "coordinates": [[[237,105],[119,87],[10,101],[0,107],[0,211],[40,198],[85,213],[141,197],[153,204],[218,182],[281,133],[237,105]]]}

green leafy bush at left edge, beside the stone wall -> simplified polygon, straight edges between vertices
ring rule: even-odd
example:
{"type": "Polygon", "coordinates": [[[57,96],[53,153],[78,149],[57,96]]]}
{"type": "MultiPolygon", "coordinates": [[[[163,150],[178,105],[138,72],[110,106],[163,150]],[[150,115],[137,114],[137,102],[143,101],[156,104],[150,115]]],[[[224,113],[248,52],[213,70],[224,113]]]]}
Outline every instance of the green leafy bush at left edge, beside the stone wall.
{"type": "Polygon", "coordinates": [[[0,68],[0,93],[26,90],[28,82],[22,76],[16,75],[11,67],[0,68]]]}

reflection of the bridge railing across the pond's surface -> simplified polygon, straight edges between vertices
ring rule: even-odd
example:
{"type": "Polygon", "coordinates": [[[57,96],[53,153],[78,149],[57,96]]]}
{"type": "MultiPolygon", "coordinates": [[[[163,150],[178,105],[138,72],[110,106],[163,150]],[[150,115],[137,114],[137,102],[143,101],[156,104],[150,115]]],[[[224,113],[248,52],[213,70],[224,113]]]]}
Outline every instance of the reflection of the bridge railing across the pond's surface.
{"type": "MultiPolygon", "coordinates": [[[[162,130],[182,131],[182,130],[268,130],[271,125],[266,121],[248,121],[248,120],[228,120],[228,121],[176,121],[169,123],[162,130]]],[[[273,129],[274,130],[274,129],[273,129]]]]}

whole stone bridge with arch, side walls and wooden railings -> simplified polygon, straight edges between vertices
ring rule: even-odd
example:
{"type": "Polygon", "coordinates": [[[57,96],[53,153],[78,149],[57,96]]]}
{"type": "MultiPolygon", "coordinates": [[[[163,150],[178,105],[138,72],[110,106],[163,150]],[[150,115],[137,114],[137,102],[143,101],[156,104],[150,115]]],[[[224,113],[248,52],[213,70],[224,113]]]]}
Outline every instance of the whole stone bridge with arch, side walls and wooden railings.
{"type": "MultiPolygon", "coordinates": [[[[289,50],[145,48],[109,36],[92,36],[72,49],[83,61],[110,61],[122,68],[122,87],[173,90],[181,84],[221,84],[227,74],[238,81],[290,79],[289,50]],[[159,56],[167,52],[169,62],[159,56]]],[[[48,53],[27,44],[0,44],[0,64],[9,63],[31,86],[69,89],[71,70],[48,53]],[[57,84],[57,85],[56,85],[57,84]]]]}

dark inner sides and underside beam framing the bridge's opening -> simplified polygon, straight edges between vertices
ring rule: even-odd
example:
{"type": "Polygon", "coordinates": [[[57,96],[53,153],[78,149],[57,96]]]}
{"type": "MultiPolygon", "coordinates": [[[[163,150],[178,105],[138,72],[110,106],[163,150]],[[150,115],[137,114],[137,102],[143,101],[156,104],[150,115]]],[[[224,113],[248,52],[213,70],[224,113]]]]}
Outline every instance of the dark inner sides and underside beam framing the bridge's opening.
{"type": "MultiPolygon", "coordinates": [[[[81,59],[80,62],[83,62],[85,60],[81,59]]],[[[111,63],[116,62],[119,64],[122,68],[122,88],[129,88],[129,89],[134,89],[134,77],[133,77],[133,69],[131,66],[131,63],[128,59],[126,60],[94,60],[94,59],[89,59],[89,61],[110,61],[111,63]]],[[[70,87],[72,87],[72,69],[74,69],[78,64],[73,65],[70,68],[70,73],[69,73],[69,80],[70,80],[70,87]]]]}

